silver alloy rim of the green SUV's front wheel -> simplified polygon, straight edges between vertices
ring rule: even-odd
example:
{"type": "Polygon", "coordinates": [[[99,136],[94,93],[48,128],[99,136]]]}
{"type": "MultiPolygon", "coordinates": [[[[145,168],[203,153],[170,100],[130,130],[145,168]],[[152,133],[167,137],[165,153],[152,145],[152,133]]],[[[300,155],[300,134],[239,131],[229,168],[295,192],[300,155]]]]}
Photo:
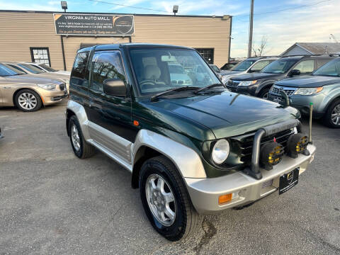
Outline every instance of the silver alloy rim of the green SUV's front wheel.
{"type": "Polygon", "coordinates": [[[169,184],[158,174],[151,174],[145,186],[147,203],[152,215],[162,225],[169,227],[176,218],[176,201],[169,184]]]}

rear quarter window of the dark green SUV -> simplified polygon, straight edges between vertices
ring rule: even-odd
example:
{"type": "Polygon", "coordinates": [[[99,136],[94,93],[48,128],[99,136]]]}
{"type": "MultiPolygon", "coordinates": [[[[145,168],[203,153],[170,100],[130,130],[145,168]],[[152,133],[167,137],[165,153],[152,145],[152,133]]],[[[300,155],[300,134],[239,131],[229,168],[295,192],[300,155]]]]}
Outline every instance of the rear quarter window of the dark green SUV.
{"type": "Polygon", "coordinates": [[[87,60],[89,59],[89,52],[78,53],[74,66],[72,68],[70,84],[78,86],[89,86],[89,71],[86,69],[87,60]]]}

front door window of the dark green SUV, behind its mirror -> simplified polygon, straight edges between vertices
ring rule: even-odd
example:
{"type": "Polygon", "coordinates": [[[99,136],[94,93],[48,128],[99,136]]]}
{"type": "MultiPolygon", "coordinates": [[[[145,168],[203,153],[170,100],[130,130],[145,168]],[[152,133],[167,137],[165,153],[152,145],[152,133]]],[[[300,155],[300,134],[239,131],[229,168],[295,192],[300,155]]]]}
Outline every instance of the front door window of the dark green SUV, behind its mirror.
{"type": "Polygon", "coordinates": [[[103,92],[103,81],[106,79],[123,79],[125,72],[119,51],[96,52],[92,60],[91,89],[103,92]]]}

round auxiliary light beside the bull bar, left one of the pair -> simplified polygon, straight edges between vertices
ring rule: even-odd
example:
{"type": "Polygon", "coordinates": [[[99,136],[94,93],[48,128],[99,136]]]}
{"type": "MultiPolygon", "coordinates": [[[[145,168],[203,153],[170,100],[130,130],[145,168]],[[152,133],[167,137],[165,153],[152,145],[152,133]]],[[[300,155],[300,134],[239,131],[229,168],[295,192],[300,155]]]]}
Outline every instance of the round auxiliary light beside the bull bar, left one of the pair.
{"type": "Polygon", "coordinates": [[[266,170],[280,163],[283,157],[283,146],[278,142],[268,142],[261,148],[260,163],[266,170]]]}

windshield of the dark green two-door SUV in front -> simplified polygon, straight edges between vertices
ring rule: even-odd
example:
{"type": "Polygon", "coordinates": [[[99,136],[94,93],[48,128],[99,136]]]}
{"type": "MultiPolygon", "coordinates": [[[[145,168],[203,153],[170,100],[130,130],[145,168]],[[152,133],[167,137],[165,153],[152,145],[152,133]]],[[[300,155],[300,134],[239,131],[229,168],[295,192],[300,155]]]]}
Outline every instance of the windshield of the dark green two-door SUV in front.
{"type": "Polygon", "coordinates": [[[203,88],[220,84],[195,50],[172,48],[131,49],[130,56],[142,94],[185,86],[203,88]]]}

